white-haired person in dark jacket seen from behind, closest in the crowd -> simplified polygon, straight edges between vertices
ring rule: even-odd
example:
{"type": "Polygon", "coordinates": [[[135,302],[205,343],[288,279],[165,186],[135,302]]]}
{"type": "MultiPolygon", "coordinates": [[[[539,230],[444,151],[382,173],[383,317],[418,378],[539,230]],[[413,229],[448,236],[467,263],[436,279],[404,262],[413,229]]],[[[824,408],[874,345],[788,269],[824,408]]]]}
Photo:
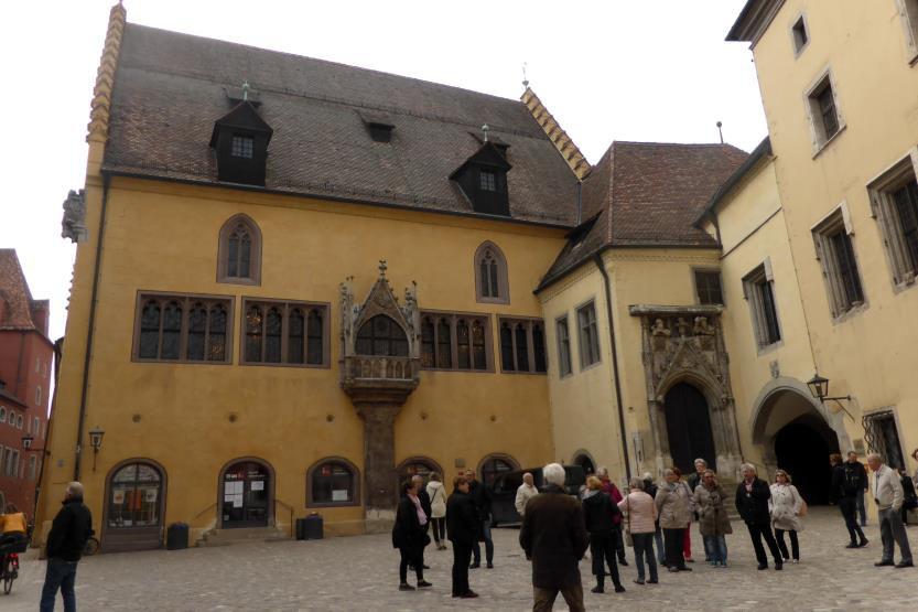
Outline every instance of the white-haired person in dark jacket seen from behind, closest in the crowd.
{"type": "Polygon", "coordinates": [[[526,504],[519,544],[532,560],[534,610],[551,610],[561,592],[571,610],[583,610],[579,562],[588,544],[583,508],[564,491],[564,468],[542,469],[542,492],[526,504]]]}

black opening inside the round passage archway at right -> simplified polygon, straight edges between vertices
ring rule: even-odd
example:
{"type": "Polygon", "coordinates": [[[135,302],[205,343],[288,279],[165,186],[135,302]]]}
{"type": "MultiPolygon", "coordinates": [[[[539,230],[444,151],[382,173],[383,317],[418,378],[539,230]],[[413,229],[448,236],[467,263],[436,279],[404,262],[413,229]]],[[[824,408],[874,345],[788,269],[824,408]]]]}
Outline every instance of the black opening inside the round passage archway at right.
{"type": "Polygon", "coordinates": [[[804,415],[775,434],[778,468],[790,474],[810,505],[829,503],[832,483],[829,454],[839,450],[839,437],[816,415],[804,415]]]}

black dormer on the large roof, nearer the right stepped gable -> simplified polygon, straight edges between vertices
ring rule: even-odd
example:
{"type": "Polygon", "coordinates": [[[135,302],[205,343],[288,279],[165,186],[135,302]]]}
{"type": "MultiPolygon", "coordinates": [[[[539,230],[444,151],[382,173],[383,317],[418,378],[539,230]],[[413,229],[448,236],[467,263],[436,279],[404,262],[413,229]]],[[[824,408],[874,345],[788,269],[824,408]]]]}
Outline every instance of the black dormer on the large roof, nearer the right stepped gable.
{"type": "Polygon", "coordinates": [[[471,158],[450,174],[450,180],[458,184],[476,213],[510,214],[507,172],[514,167],[507,161],[506,150],[506,147],[485,140],[471,158]]]}

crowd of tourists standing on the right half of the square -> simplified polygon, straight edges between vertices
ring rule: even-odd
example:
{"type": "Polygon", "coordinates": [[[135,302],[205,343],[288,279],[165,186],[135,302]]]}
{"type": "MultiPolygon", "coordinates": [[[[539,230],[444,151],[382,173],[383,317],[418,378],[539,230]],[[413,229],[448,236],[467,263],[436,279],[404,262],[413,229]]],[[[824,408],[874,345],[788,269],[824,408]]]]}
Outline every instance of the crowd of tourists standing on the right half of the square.
{"type": "MultiPolygon", "coordinates": [[[[918,450],[915,452],[918,460],[918,450]]],[[[867,458],[873,479],[857,462],[855,453],[841,462],[833,455],[832,491],[845,518],[850,548],[867,545],[858,523],[858,500],[873,491],[879,511],[884,554],[877,566],[892,566],[894,543],[901,550],[896,567],[911,567],[911,554],[905,537],[900,509],[904,487],[899,473],[883,465],[879,455],[867,458]]],[[[639,586],[659,583],[658,567],[670,572],[691,571],[691,525],[704,544],[705,561],[714,568],[727,567],[726,536],[733,533],[727,504],[734,504],[746,525],[759,570],[775,570],[787,562],[800,561],[800,540],[807,503],[785,470],[777,470],[775,481],[760,479],[753,464],[741,466],[742,480],[735,491],[727,491],[717,474],[703,459],[694,462],[695,472],[682,479],[678,469],[663,471],[663,482],[656,484],[650,474],[631,479],[623,495],[600,468],[590,475],[580,498],[565,488],[565,471],[558,463],[542,469],[543,485],[537,487],[532,474],[525,474],[517,490],[516,508],[522,517],[519,543],[532,567],[533,610],[551,610],[561,593],[571,610],[583,610],[583,587],[579,562],[592,561],[596,584],[592,592],[605,592],[606,577],[614,591],[625,591],[618,566],[627,566],[625,546],[634,549],[639,586]],[[656,554],[655,554],[656,545],[656,554]]],[[[906,476],[911,483],[911,479],[906,476]]],[[[918,480],[918,472],[916,472],[918,480]]],[[[414,476],[402,486],[392,543],[401,552],[400,589],[414,590],[407,582],[413,568],[418,588],[431,587],[423,579],[423,549],[433,535],[438,549],[453,547],[453,597],[478,597],[468,584],[468,570],[480,567],[480,541],[485,543],[487,568],[494,567],[490,538],[492,497],[474,472],[453,480],[453,493],[446,496],[439,474],[430,482],[414,476]],[[431,527],[432,526],[432,527],[431,527]]],[[[911,487],[914,492],[914,487],[911,487]]],[[[862,522],[866,518],[862,517],[862,522]]]]}

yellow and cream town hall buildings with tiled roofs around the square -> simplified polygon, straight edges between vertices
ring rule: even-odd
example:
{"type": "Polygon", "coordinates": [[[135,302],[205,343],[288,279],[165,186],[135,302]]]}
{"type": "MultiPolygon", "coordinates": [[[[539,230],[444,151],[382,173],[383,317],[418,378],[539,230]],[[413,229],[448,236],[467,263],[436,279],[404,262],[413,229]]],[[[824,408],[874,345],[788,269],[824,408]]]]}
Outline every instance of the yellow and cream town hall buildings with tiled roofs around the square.
{"type": "Polygon", "coordinates": [[[916,299],[918,97],[892,40],[918,7],[839,4],[889,74],[840,51],[822,4],[749,0],[730,40],[753,44],[781,129],[752,154],[617,141],[594,165],[528,87],[504,99],[116,6],[65,204],[78,248],[40,523],[75,479],[102,549],[128,550],[175,522],[201,544],[313,512],[333,535],[386,528],[398,476],[430,471],[622,479],[703,457],[726,480],[786,468],[819,503],[829,452],[905,464],[918,355],[911,326],[890,330],[916,299]],[[789,36],[798,21],[819,35],[789,36]],[[883,87],[888,108],[854,96],[883,87]],[[846,397],[814,396],[822,379],[846,397]]]}

